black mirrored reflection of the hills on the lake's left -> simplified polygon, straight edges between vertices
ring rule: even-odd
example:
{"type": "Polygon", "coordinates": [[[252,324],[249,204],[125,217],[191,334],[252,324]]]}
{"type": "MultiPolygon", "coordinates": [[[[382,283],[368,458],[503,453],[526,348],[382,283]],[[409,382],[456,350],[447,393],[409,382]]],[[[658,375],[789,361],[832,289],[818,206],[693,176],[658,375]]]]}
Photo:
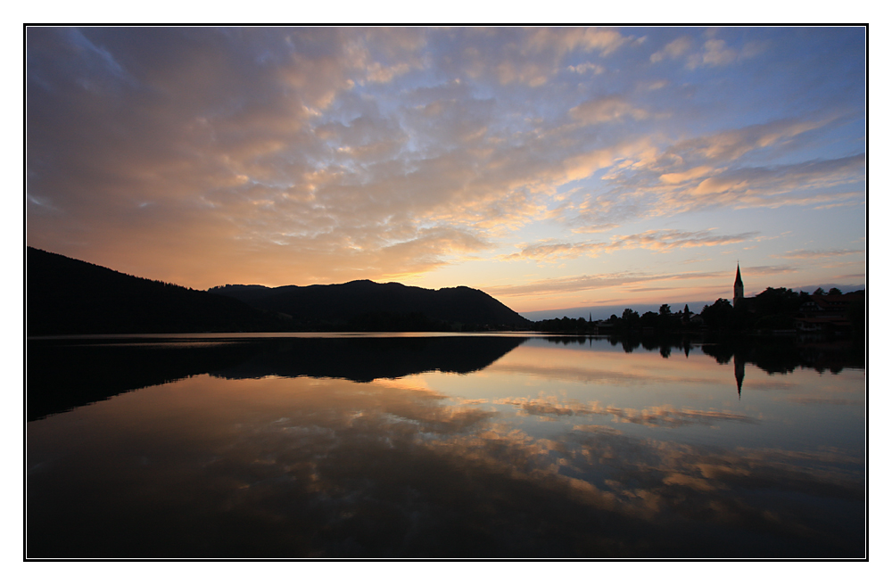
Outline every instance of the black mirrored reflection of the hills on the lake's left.
{"type": "Polygon", "coordinates": [[[524,337],[154,336],[33,339],[28,342],[29,421],[193,375],[346,378],[370,382],[490,365],[524,337]]]}

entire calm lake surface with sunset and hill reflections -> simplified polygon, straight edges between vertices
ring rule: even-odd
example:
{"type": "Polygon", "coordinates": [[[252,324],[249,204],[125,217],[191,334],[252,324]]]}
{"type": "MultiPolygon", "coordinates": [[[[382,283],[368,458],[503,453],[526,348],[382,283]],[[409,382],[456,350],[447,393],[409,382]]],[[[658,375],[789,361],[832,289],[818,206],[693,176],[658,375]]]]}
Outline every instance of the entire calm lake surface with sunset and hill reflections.
{"type": "Polygon", "coordinates": [[[648,347],[30,340],[26,555],[866,554],[863,361],[648,347]]]}

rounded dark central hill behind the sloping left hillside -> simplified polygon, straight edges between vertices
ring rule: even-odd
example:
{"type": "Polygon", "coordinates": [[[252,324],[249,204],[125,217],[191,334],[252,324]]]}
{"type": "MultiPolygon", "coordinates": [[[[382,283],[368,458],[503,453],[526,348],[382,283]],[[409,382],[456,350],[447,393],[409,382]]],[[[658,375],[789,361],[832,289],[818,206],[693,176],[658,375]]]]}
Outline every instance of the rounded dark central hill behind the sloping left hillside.
{"type": "Polygon", "coordinates": [[[524,328],[530,322],[490,295],[467,286],[434,291],[398,283],[279,286],[227,284],[211,293],[293,317],[303,329],[359,331],[524,328]]]}

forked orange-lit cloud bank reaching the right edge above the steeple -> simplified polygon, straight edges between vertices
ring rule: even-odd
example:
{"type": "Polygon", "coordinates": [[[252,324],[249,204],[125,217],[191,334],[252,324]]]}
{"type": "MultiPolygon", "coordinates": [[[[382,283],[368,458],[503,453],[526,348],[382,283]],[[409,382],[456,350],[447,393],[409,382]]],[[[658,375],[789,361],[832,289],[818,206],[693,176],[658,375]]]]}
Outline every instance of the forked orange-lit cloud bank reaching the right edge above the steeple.
{"type": "Polygon", "coordinates": [[[744,162],[756,152],[805,140],[835,119],[780,119],[680,140],[662,150],[641,142],[637,152],[616,152],[603,167],[606,193],[571,198],[561,204],[558,215],[574,232],[584,233],[636,218],[702,209],[858,202],[863,199],[863,192],[856,190],[864,180],[863,154],[775,166],[744,162]]]}

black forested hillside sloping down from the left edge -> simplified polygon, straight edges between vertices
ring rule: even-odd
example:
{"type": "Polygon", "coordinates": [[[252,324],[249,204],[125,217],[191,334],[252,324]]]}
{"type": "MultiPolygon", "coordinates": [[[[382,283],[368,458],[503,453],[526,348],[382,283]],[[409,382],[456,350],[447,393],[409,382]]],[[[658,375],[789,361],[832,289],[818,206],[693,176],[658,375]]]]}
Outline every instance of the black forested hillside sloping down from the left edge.
{"type": "Polygon", "coordinates": [[[29,247],[27,335],[277,331],[242,301],[29,247]]]}

